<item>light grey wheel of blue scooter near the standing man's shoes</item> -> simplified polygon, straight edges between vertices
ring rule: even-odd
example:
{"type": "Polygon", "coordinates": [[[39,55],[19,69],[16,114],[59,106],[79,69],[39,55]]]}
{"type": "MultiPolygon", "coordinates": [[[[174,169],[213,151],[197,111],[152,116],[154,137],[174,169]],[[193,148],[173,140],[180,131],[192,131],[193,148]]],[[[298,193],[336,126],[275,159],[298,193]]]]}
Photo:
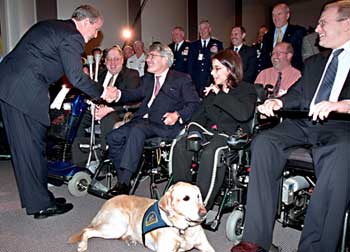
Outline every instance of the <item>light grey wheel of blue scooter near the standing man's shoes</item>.
{"type": "Polygon", "coordinates": [[[76,197],[85,196],[91,183],[91,177],[88,173],[80,171],[74,174],[68,181],[68,191],[76,197]]]}

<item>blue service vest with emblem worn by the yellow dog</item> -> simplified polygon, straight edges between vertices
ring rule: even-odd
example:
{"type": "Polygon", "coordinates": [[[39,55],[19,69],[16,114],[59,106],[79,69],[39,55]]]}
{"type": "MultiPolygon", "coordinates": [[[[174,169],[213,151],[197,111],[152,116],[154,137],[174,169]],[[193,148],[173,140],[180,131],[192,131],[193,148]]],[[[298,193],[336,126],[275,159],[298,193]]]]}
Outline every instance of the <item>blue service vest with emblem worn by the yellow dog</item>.
{"type": "MultiPolygon", "coordinates": [[[[142,242],[145,244],[145,236],[147,233],[158,228],[170,227],[162,218],[159,211],[158,201],[154,202],[145,212],[142,219],[142,242]]],[[[181,233],[181,231],[180,231],[181,233]]]]}

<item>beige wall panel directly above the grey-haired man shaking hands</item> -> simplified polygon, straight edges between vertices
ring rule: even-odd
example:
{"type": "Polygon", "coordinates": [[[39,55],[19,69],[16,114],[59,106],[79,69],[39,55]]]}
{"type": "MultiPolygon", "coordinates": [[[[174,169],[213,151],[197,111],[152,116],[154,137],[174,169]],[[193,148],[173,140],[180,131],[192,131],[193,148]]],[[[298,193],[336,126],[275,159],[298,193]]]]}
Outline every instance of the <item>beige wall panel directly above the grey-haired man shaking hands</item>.
{"type": "Polygon", "coordinates": [[[187,31],[187,0],[147,1],[141,22],[141,36],[146,49],[153,41],[169,44],[174,26],[182,26],[187,31]]]}

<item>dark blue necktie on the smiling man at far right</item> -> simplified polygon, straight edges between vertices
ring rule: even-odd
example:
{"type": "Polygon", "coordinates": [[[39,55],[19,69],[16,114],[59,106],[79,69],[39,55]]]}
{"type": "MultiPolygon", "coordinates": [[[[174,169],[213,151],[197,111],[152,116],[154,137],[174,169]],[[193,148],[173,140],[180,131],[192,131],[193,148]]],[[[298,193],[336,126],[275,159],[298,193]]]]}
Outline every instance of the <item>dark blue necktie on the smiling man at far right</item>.
{"type": "Polygon", "coordinates": [[[318,90],[315,99],[315,104],[319,103],[320,101],[328,101],[335,80],[335,75],[337,74],[338,56],[343,50],[344,49],[342,48],[333,52],[333,58],[331,60],[331,63],[329,63],[326,73],[323,77],[320,89],[318,90]]]}

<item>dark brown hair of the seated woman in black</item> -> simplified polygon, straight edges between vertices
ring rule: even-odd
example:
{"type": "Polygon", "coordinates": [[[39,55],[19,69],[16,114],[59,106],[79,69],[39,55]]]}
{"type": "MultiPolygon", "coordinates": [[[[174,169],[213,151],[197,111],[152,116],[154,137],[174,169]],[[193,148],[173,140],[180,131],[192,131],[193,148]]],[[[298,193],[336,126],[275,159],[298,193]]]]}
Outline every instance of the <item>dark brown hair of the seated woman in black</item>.
{"type": "Polygon", "coordinates": [[[231,49],[225,49],[212,56],[229,70],[227,86],[233,88],[243,79],[242,60],[238,53],[231,49]]]}

